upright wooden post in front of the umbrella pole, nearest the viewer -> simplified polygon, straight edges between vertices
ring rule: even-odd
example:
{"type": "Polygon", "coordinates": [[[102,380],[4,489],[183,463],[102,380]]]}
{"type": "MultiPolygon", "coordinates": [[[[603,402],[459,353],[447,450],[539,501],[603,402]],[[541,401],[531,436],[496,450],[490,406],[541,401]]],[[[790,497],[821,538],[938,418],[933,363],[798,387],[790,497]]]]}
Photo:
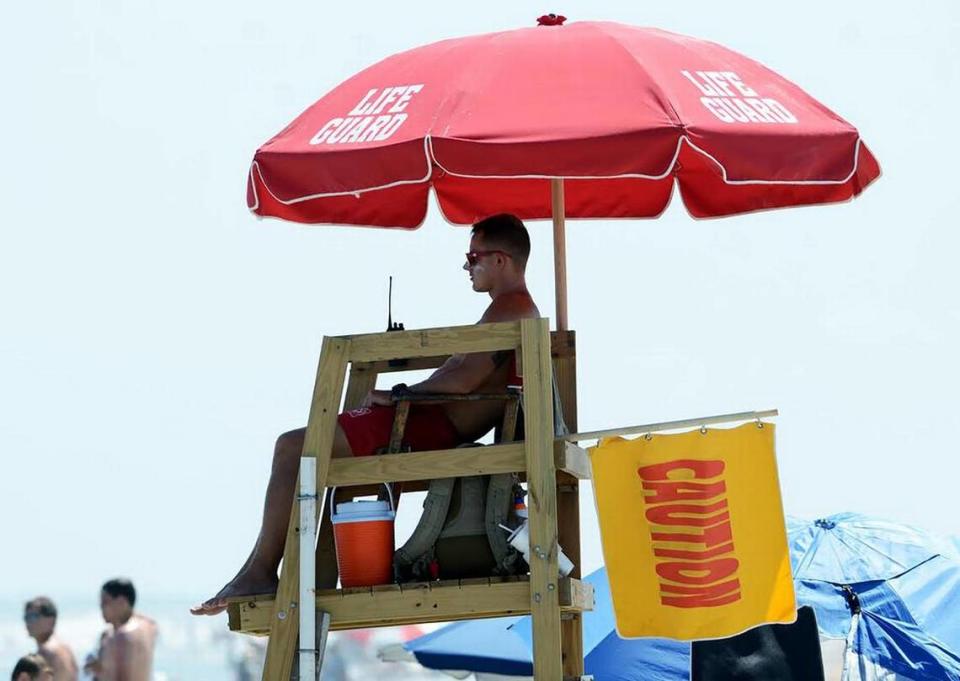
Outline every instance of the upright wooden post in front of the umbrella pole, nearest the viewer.
{"type": "Polygon", "coordinates": [[[524,372],[527,508],[530,514],[530,611],[535,681],[562,678],[557,593],[557,475],[554,467],[553,379],[546,319],[520,325],[524,372]]]}

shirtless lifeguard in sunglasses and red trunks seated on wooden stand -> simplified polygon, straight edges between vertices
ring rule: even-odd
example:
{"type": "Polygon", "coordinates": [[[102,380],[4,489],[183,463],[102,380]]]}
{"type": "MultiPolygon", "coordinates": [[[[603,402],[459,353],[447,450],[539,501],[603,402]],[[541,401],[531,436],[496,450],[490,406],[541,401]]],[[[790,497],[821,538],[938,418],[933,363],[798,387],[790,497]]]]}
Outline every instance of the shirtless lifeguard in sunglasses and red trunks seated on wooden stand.
{"type": "MultiPolygon", "coordinates": [[[[529,255],[530,237],[513,215],[494,215],[473,226],[463,269],[470,275],[473,290],[487,293],[492,299],[478,323],[540,316],[524,276],[529,255]]],[[[396,386],[394,390],[458,395],[502,393],[515,380],[513,353],[472,353],[453,355],[425,381],[396,386]]],[[[360,409],[338,417],[333,456],[368,456],[385,446],[390,439],[393,411],[391,391],[371,390],[360,409]]],[[[413,405],[405,441],[414,450],[452,448],[482,437],[502,420],[501,401],[413,405]]],[[[277,566],[283,556],[304,432],[302,428],[290,431],[277,440],[263,521],[250,557],[216,596],[191,609],[194,615],[223,612],[232,596],[276,591],[277,566]]]]}

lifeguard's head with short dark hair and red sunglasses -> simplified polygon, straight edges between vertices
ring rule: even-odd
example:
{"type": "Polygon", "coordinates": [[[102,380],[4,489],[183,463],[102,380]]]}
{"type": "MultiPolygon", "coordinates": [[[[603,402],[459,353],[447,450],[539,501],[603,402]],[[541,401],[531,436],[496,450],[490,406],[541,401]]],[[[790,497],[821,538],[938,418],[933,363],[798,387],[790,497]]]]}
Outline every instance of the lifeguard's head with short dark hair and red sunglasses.
{"type": "Polygon", "coordinates": [[[463,269],[473,290],[487,292],[523,283],[530,257],[530,235],[516,215],[500,213],[473,225],[463,269]]]}

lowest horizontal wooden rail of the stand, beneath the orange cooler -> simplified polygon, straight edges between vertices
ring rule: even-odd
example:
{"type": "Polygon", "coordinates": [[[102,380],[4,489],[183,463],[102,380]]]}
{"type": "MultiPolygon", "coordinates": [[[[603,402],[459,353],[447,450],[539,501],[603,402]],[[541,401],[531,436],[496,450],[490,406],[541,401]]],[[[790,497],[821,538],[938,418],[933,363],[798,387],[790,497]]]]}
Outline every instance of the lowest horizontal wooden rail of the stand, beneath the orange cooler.
{"type": "MultiPolygon", "coordinates": [[[[557,584],[561,612],[593,609],[593,587],[579,579],[557,584]]],[[[424,622],[506,617],[530,613],[527,577],[463,579],[317,592],[317,609],[330,614],[330,630],[389,627],[424,622]]],[[[265,636],[279,613],[272,595],[231,600],[227,608],[231,631],[265,636]]],[[[296,609],[283,611],[295,617],[296,609]]]]}

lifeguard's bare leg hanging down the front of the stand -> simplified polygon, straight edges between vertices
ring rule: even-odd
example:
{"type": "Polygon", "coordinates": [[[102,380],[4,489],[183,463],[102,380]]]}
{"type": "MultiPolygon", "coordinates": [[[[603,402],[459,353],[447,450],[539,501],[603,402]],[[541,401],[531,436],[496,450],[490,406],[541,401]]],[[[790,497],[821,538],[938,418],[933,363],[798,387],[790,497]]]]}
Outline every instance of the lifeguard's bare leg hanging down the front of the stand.
{"type": "MultiPolygon", "coordinates": [[[[283,557],[287,523],[293,505],[294,487],[300,470],[305,429],[299,428],[277,438],[273,467],[263,504],[263,520],[250,556],[236,576],[216,596],[191,608],[194,615],[216,615],[227,608],[227,598],[274,593],[277,590],[277,567],[283,557]]],[[[333,441],[334,458],[351,456],[347,438],[337,426],[333,441]]]]}

